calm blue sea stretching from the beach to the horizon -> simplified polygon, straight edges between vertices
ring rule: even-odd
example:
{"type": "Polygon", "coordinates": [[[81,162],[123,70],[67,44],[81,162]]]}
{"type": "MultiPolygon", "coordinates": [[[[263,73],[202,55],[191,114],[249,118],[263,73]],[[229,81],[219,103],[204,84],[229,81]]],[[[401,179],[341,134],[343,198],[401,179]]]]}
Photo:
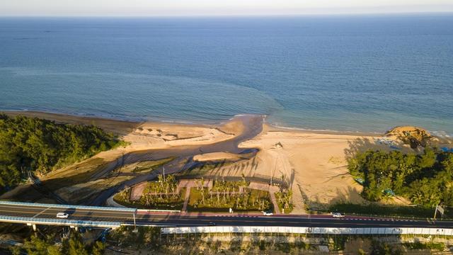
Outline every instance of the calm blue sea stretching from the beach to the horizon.
{"type": "Polygon", "coordinates": [[[453,14],[0,18],[0,109],[453,134],[453,14]]]}

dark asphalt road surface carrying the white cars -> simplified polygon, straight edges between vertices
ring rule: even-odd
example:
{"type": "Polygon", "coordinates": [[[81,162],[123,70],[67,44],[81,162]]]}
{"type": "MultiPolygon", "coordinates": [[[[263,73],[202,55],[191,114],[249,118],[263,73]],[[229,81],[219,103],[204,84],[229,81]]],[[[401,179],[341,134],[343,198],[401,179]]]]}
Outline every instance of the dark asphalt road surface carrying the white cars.
{"type": "MultiPolygon", "coordinates": [[[[46,206],[0,205],[0,215],[55,219],[57,212],[69,213],[69,220],[91,220],[133,224],[132,212],[74,209],[46,206]]],[[[206,226],[280,226],[280,227],[433,227],[453,228],[452,221],[408,220],[329,215],[225,215],[215,213],[137,212],[137,225],[165,225],[175,227],[206,226]]]]}

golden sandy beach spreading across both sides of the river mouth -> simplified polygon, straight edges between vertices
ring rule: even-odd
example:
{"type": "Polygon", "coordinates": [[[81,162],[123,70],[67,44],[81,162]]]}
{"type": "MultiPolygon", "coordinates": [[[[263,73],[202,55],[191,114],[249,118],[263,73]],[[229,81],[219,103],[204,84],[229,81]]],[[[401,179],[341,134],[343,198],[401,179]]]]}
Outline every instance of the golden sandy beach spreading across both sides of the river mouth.
{"type": "MultiPolygon", "coordinates": [[[[115,168],[122,157],[123,164],[134,161],[161,159],[165,157],[190,157],[198,162],[225,162],[211,169],[207,174],[214,176],[273,176],[284,179],[293,191],[293,213],[306,212],[306,208],[327,208],[332,203],[365,203],[360,196],[361,188],[348,174],[346,157],[355,149],[389,149],[388,145],[376,142],[379,135],[341,132],[319,132],[308,130],[285,130],[265,125],[254,125],[253,132],[258,135],[246,137],[251,133],[246,118],[234,118],[219,125],[181,125],[176,123],[132,123],[102,118],[74,117],[53,113],[8,112],[8,115],[27,115],[47,118],[62,123],[80,123],[98,125],[105,130],[115,132],[129,143],[108,152],[101,152],[91,159],[79,162],[64,169],[58,169],[40,176],[43,181],[74,179],[84,173],[91,179],[84,185],[59,186],[63,182],[55,181],[51,188],[56,193],[65,195],[77,188],[98,185],[98,179],[107,180],[108,171],[115,168]],[[239,139],[241,138],[241,139],[239,139]],[[256,154],[237,154],[231,147],[236,143],[239,149],[258,149],[256,154]],[[140,157],[127,157],[125,154],[140,157]],[[116,161],[116,162],[115,162],[116,161]],[[96,173],[96,169],[110,169],[105,174],[96,173]],[[93,177],[94,176],[94,177],[93,177]],[[96,177],[96,178],[95,178],[96,177]]],[[[257,118],[259,119],[259,118],[257,118]]],[[[403,148],[404,150],[405,148],[403,148]]],[[[173,170],[168,166],[168,171],[173,170]]],[[[6,194],[5,194],[6,195],[6,194]]],[[[5,196],[4,195],[4,196],[5,196]]],[[[65,196],[66,198],[68,196],[65,196]]],[[[396,200],[395,203],[401,203],[396,200]]]]}

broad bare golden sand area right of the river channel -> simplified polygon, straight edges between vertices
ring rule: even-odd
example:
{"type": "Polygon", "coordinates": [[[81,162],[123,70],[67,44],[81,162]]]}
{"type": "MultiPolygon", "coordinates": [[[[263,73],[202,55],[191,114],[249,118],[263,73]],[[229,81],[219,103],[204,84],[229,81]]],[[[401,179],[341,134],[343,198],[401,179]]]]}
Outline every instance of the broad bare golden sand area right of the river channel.
{"type": "Polygon", "coordinates": [[[326,208],[331,203],[365,203],[362,186],[348,173],[350,148],[389,149],[375,143],[377,136],[281,130],[265,126],[263,132],[240,147],[256,147],[258,165],[253,174],[283,177],[293,191],[295,209],[326,208]],[[306,199],[304,199],[306,198],[306,199]]]}

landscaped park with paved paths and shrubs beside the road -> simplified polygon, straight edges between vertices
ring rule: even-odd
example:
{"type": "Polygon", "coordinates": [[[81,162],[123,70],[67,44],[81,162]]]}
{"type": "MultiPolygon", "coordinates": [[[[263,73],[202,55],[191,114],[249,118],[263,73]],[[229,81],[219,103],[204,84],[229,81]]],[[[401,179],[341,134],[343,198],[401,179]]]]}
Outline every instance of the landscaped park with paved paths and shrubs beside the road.
{"type": "Polygon", "coordinates": [[[123,206],[185,212],[275,212],[292,210],[292,193],[270,183],[224,179],[176,179],[159,175],[158,181],[139,183],[114,196],[123,206]]]}

